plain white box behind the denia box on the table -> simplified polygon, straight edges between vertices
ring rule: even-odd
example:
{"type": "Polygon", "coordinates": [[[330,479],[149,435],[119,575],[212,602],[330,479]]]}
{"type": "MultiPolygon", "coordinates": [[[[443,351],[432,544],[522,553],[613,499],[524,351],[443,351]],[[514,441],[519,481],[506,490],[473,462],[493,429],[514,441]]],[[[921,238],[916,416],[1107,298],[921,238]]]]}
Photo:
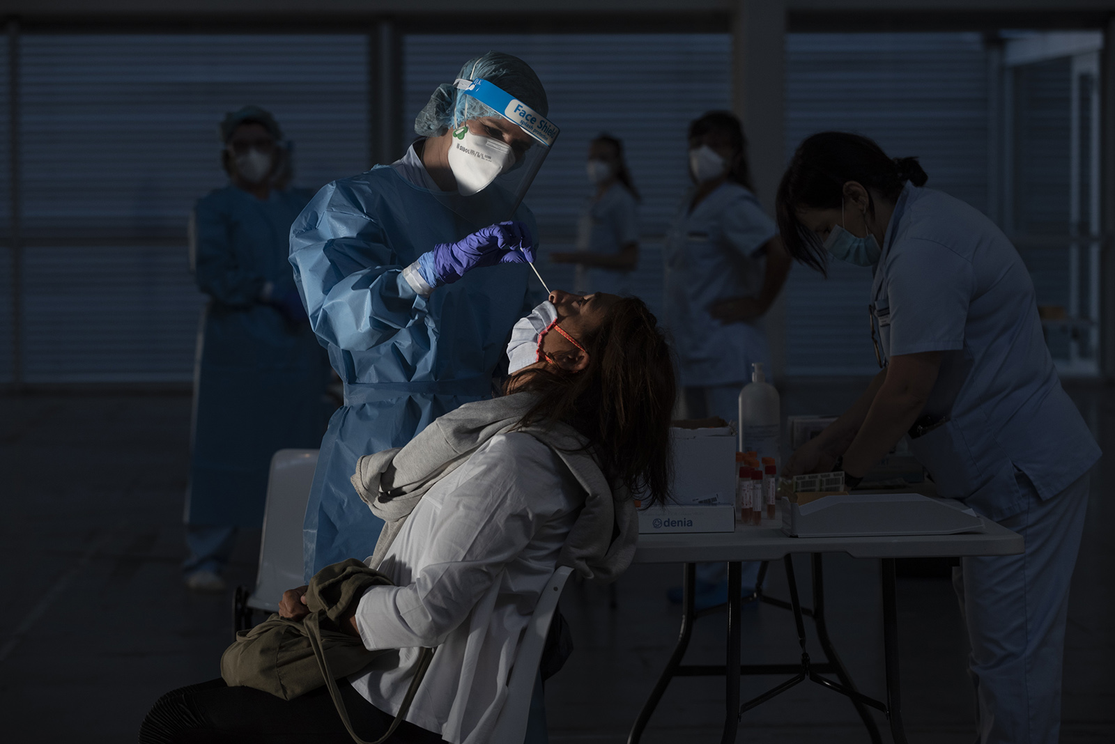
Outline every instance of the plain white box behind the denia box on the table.
{"type": "MultiPolygon", "coordinates": [[[[679,505],[736,503],[736,435],[721,429],[670,429],[673,483],[670,496],[679,505]]],[[[705,530],[699,530],[705,531],[705,530]]]]}

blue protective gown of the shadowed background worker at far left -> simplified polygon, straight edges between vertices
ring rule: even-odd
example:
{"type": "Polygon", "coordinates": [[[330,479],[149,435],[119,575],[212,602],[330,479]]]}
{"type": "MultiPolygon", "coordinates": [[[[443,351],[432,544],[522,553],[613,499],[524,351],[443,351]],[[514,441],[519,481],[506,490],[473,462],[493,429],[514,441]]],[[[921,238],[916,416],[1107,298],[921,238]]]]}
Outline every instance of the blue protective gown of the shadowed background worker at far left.
{"type": "Polygon", "coordinates": [[[327,410],[328,359],[308,323],[259,301],[294,287],[290,225],[310,192],[262,202],[226,186],[194,208],[193,264],[209,295],[194,373],[186,522],[259,527],[275,450],[317,447],[327,410]]]}

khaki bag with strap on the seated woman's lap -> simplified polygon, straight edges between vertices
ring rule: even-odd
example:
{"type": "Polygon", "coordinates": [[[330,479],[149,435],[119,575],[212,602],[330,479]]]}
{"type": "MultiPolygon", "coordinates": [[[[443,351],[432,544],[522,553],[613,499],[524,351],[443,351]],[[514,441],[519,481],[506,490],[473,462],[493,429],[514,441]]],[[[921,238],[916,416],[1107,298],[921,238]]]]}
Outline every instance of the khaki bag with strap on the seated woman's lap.
{"type": "Polygon", "coordinates": [[[376,742],[360,738],[352,731],[337,678],[356,674],[386,649],[368,650],[360,638],[340,629],[339,620],[353,601],[377,585],[392,583],[359,560],[349,558],[326,566],[310,580],[306,593],[310,614],[300,620],[274,614],[254,628],[237,633],[236,640],[221,656],[221,677],[230,687],[254,687],[285,701],[326,685],[353,741],[381,744],[410,709],[434,649],[424,648],[419,654],[410,687],[387,733],[376,742]]]}

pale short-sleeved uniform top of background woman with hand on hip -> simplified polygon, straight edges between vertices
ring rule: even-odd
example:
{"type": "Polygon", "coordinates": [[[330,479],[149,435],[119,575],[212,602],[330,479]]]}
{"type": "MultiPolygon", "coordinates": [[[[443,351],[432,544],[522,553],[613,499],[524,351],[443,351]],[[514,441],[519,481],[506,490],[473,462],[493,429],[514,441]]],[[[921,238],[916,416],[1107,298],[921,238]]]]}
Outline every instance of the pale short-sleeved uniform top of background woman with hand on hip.
{"type": "Polygon", "coordinates": [[[692,192],[667,235],[665,254],[663,305],[681,384],[743,384],[750,380],[753,362],[769,362],[760,321],[721,323],[709,306],[763,288],[760,248],[778,229],[755,195],[736,183],[724,183],[692,212],[691,203],[692,192]]]}

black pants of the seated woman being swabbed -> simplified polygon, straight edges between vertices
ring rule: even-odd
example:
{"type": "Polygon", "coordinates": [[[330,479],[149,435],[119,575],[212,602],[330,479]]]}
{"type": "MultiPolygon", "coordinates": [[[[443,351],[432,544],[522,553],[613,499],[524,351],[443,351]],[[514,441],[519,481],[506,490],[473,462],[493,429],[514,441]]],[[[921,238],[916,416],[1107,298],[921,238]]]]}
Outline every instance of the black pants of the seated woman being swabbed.
{"type": "MultiPolygon", "coordinates": [[[[347,679],[338,681],[352,728],[375,741],[391,725],[387,715],[347,679]]],[[[437,734],[404,721],[391,744],[444,744],[437,734]]],[[[284,701],[223,679],[181,687],[163,695],[139,726],[139,744],[349,744],[349,736],[326,687],[284,701]]]]}

